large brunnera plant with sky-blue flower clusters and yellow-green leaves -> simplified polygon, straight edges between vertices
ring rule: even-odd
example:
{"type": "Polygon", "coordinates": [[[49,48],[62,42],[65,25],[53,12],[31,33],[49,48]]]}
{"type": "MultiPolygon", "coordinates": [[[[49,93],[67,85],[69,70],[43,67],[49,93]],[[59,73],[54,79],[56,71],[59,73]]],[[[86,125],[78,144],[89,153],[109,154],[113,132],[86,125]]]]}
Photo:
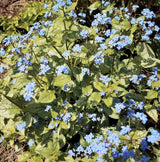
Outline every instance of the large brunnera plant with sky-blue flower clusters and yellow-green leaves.
{"type": "Polygon", "coordinates": [[[158,161],[155,13],[76,3],[44,4],[43,21],[2,40],[1,142],[28,144],[19,161],[158,161]]]}

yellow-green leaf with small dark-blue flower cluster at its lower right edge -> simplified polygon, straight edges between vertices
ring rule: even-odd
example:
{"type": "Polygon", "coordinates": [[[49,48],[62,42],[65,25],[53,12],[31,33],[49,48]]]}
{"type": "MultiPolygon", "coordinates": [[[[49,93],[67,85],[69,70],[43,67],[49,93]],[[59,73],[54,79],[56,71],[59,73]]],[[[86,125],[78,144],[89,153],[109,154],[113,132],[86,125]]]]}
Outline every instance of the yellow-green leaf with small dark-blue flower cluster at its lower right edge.
{"type": "Polygon", "coordinates": [[[53,80],[53,85],[58,87],[63,87],[64,84],[72,83],[71,77],[69,75],[59,75],[53,80]]]}

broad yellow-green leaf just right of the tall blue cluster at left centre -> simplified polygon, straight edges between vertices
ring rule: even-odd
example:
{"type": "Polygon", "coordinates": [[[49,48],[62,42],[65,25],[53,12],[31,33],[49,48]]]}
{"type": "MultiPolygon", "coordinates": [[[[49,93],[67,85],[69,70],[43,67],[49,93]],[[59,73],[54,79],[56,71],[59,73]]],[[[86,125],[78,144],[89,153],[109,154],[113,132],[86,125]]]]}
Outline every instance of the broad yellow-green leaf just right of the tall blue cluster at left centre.
{"type": "Polygon", "coordinates": [[[43,91],[39,95],[38,102],[39,103],[51,103],[56,99],[54,91],[43,91]]]}

